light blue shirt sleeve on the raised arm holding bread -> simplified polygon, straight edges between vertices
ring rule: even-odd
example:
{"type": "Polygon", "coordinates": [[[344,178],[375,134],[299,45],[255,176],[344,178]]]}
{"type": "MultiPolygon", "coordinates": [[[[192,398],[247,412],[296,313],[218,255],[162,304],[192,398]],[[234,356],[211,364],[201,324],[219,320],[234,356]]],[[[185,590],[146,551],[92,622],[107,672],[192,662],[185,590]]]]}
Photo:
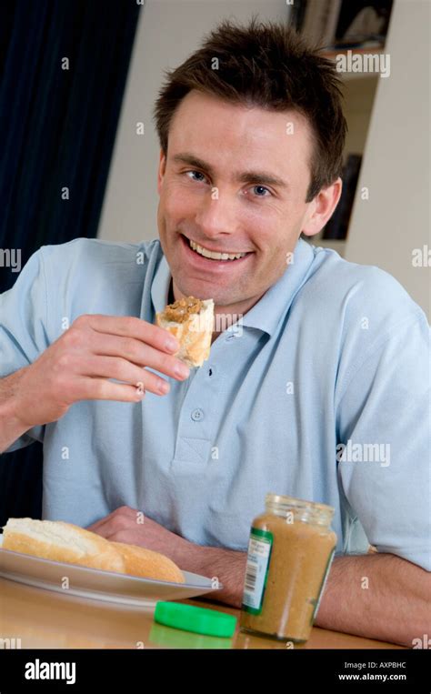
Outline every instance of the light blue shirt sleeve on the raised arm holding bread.
{"type": "MultiPolygon", "coordinates": [[[[48,347],[47,295],[43,249],[22,268],[14,287],[0,294],[0,377],[32,364],[48,347]]],[[[5,453],[42,441],[45,427],[29,429],[5,453]]]]}

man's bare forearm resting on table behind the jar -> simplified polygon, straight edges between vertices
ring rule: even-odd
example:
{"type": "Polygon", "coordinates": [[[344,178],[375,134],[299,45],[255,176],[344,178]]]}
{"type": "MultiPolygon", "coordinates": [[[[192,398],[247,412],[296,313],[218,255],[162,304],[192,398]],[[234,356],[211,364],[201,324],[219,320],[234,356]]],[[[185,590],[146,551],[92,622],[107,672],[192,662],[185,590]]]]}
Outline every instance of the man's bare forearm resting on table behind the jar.
{"type": "MultiPolygon", "coordinates": [[[[240,608],[246,552],[193,547],[186,570],[216,577],[225,587],[204,598],[240,608]]],[[[413,639],[431,633],[431,573],[393,554],[337,557],[315,625],[411,648],[413,639]]]]}

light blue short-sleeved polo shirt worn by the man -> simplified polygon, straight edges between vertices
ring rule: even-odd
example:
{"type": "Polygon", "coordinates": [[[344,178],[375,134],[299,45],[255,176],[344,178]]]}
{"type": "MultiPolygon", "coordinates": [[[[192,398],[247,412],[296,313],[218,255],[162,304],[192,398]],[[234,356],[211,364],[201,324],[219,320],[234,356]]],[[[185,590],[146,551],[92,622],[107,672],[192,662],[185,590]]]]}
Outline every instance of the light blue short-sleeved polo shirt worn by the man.
{"type": "MultiPolygon", "coordinates": [[[[158,240],[43,246],[0,296],[0,376],[33,362],[65,319],[154,322],[169,283],[158,240]]],[[[429,571],[429,373],[426,315],[396,279],[299,239],[241,329],[168,395],[76,403],[8,450],[44,442],[43,518],[86,527],[127,505],[246,551],[276,492],[333,506],[337,553],[369,542],[429,571]]]]}

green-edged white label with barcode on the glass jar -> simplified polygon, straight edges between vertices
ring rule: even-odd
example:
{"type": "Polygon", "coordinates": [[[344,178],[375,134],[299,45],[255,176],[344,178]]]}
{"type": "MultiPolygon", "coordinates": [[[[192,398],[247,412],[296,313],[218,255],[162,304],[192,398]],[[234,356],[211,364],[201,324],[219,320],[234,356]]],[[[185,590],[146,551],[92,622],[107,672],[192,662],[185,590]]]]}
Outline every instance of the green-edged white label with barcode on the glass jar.
{"type": "Polygon", "coordinates": [[[268,530],[251,528],[248,541],[243,609],[254,615],[259,615],[262,612],[273,541],[274,536],[268,530]]]}

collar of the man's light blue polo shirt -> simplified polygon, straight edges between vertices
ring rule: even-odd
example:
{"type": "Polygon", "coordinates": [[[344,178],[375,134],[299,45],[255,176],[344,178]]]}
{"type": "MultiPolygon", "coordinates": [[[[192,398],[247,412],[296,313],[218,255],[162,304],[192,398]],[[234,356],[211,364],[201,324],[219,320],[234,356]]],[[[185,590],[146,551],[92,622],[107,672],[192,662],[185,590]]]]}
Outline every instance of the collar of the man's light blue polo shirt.
{"type": "MultiPolygon", "coordinates": [[[[308,270],[313,264],[315,254],[313,247],[303,238],[299,238],[293,254],[293,262],[286,264],[286,270],[254,307],[242,318],[242,325],[273,335],[281,317],[292,303],[296,293],[306,282],[308,270]]],[[[167,304],[171,272],[165,254],[162,252],[160,263],[155,271],[151,286],[151,298],[155,311],[163,311],[167,304]]]]}

